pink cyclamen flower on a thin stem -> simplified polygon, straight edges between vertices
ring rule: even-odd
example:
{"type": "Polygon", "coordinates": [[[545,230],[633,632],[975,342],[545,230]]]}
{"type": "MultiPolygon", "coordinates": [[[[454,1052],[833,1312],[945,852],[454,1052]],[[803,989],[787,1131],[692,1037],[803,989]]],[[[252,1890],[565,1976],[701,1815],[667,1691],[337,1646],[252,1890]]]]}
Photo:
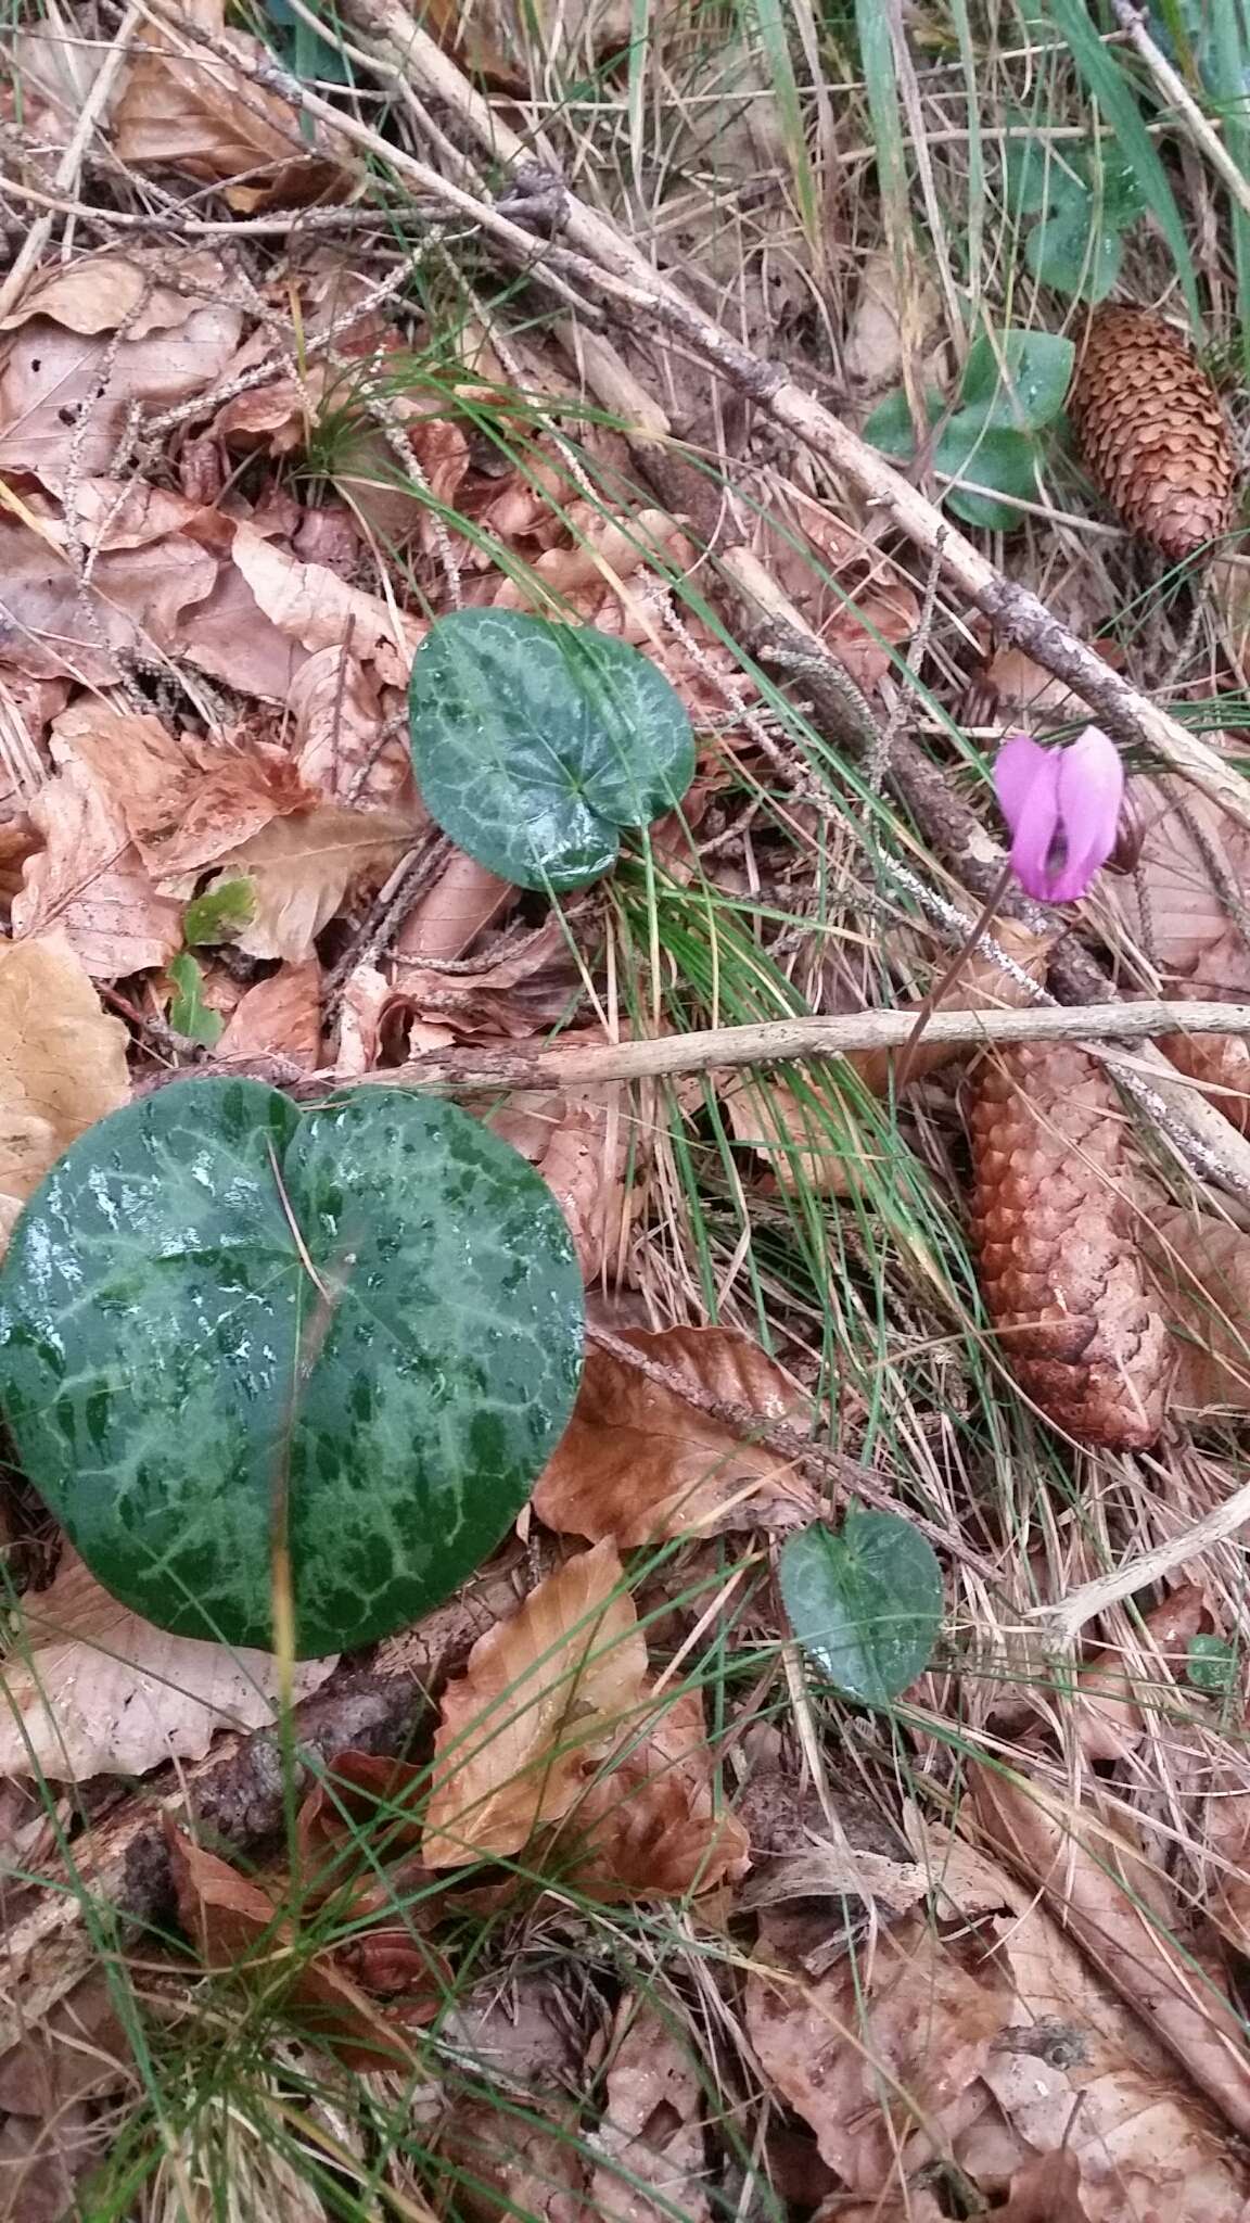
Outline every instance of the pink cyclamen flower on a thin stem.
{"type": "Polygon", "coordinates": [[[1025,894],[1077,903],[1117,843],[1123,765],[1114,740],[1097,725],[1068,749],[1012,734],[994,758],[994,789],[1025,894]]]}

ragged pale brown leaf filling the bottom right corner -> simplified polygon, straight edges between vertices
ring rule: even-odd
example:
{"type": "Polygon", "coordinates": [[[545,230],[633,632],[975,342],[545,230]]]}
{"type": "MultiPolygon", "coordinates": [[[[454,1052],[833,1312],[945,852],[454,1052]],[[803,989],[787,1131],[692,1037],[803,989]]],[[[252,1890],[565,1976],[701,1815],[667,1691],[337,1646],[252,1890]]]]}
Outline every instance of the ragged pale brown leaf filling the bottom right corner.
{"type": "Polygon", "coordinates": [[[1005,2192],[1050,2167],[1061,2183],[1074,2163],[1081,2205],[1063,2223],[1246,2223],[1250,2170],[1154,2030],[1079,1952],[1061,1883],[1054,1921],[1032,1883],[943,1830],[927,1834],[925,1858],[945,1912],[976,1923],[990,1912],[988,1950],[1010,1983],[1010,2043],[985,2067],[999,2125],[983,2119],[956,2141],[974,2181],[1005,2192]]]}

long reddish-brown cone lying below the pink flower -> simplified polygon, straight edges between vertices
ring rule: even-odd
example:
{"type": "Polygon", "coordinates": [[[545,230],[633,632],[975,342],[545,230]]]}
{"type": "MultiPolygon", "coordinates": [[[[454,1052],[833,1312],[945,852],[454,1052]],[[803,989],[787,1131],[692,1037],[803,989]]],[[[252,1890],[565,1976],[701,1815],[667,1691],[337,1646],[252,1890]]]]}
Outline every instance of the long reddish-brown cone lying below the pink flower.
{"type": "Polygon", "coordinates": [[[1005,1049],[974,1085],[972,1232],[1003,1356],[1077,1443],[1145,1449],[1163,1425],[1170,1352],[1137,1247],[1114,1089],[1070,1043],[1005,1049]]]}

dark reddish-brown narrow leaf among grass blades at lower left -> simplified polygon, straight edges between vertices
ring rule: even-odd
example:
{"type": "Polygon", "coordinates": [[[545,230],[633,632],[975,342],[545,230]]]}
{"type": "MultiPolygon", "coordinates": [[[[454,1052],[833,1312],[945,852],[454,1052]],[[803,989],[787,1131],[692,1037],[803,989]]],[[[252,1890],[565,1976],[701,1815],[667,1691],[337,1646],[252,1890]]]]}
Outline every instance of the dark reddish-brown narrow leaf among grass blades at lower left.
{"type": "Polygon", "coordinates": [[[411,2070],[414,2054],[403,2030],[336,1967],[329,1952],[307,1952],[260,1883],[194,1845],[171,1821],[165,1836],[178,1916],[205,1967],[238,1970],[267,2001],[282,2001],[314,2045],[349,2067],[411,2070]]]}

